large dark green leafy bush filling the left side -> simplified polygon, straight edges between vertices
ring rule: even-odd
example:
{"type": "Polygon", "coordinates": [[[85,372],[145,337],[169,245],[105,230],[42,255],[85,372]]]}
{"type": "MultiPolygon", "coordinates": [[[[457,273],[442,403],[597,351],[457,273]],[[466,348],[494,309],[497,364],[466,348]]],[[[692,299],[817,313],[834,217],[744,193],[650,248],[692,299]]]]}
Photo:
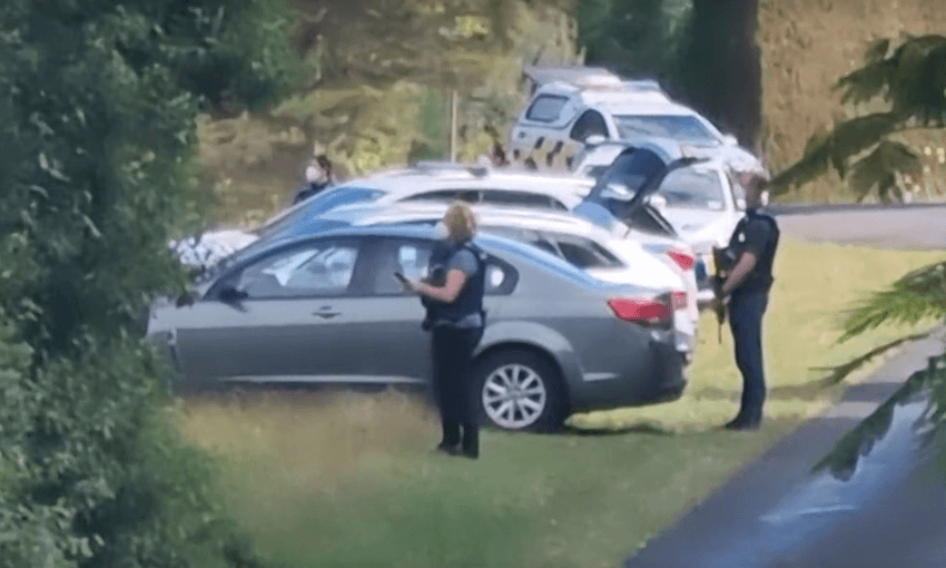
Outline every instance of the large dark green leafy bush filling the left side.
{"type": "Polygon", "coordinates": [[[2,568],[248,561],[138,337],[186,284],[198,110],[289,84],[279,6],[0,4],[2,568]]]}

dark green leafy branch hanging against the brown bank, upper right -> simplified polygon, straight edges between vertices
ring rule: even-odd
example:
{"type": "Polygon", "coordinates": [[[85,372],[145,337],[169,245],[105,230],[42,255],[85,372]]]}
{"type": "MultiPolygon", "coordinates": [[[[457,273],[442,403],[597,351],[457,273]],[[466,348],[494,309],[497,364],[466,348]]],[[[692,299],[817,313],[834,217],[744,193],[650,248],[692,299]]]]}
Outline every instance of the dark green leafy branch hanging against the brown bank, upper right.
{"type": "Polygon", "coordinates": [[[835,90],[841,101],[883,101],[887,109],[841,121],[811,137],[805,155],[776,176],[776,193],[810,182],[834,169],[849,178],[863,200],[874,190],[887,203],[903,199],[898,175],[919,175],[918,155],[890,136],[908,129],[946,126],[946,37],[907,38],[890,51],[890,41],[873,43],[865,65],[842,77],[835,90]]]}

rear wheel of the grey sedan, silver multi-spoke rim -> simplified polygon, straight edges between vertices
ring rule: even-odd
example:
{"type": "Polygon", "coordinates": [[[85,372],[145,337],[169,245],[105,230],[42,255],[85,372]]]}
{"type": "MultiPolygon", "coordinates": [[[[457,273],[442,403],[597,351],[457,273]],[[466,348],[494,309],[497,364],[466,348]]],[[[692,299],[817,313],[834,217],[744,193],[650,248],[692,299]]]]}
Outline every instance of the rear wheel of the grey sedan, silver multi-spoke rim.
{"type": "Polygon", "coordinates": [[[473,395],[481,420],[510,431],[551,432],[568,415],[558,370],[539,354],[520,349],[486,355],[473,371],[473,395]]]}

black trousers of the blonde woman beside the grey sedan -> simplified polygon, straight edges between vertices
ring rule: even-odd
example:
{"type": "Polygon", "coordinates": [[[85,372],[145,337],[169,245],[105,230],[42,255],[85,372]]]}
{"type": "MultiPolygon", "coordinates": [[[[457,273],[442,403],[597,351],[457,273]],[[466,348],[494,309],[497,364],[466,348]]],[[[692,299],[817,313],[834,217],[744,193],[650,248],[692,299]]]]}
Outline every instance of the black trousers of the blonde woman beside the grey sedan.
{"type": "Polygon", "coordinates": [[[477,449],[479,405],[471,368],[473,350],[483,336],[483,329],[437,325],[432,335],[434,390],[441,411],[443,442],[447,445],[460,443],[462,425],[464,449],[477,449]]]}

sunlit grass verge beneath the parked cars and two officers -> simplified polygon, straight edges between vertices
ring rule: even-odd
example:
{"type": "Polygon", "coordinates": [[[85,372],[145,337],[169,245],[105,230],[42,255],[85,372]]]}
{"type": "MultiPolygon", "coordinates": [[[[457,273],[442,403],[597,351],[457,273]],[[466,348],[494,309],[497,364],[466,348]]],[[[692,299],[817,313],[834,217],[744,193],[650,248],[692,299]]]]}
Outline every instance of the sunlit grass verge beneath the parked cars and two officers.
{"type": "Polygon", "coordinates": [[[612,567],[826,409],[839,390],[812,368],[905,332],[835,346],[837,312],[939,256],[786,239],[766,319],[771,420],[758,433],[715,429],[736,412],[740,381],[728,331],[718,344],[711,315],[681,400],[577,415],[562,435],[489,431],[476,462],[432,454],[435,414],[396,392],[189,401],[176,417],[221,457],[233,510],[276,562],[612,567]]]}

